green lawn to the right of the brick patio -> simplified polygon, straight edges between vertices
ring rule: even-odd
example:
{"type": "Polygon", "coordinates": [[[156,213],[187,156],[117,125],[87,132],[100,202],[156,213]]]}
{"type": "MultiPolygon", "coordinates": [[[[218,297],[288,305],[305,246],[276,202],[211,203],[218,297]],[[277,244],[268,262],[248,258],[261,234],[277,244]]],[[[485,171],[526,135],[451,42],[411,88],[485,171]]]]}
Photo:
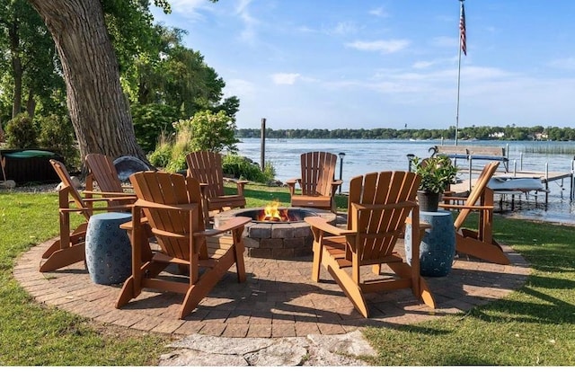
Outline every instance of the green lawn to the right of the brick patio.
{"type": "Polygon", "coordinates": [[[572,366],[575,364],[573,227],[497,217],[496,238],[532,267],[524,288],[467,314],[367,329],[377,365],[572,366]]]}

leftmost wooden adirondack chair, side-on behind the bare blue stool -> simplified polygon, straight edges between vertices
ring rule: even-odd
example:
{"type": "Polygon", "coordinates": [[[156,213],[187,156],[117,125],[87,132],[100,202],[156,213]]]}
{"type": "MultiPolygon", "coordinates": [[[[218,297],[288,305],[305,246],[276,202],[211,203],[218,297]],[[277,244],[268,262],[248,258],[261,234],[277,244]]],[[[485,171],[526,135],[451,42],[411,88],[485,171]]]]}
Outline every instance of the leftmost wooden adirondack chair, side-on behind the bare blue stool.
{"type": "Polygon", "coordinates": [[[50,159],[50,164],[52,164],[52,167],[62,182],[62,188],[58,191],[60,237],[42,254],[42,259],[46,259],[46,261],[40,265],[41,272],[57,270],[72,263],[84,261],[86,228],[93,212],[125,209],[125,203],[134,200],[133,197],[125,196],[84,198],[80,192],[75,189],[72,178],[66,170],[66,166],[55,159],[50,159]],[[105,202],[106,206],[94,208],[89,205],[89,203],[98,201],[105,202]],[[84,217],[84,222],[73,231],[70,231],[70,214],[73,213],[81,214],[84,217]]]}

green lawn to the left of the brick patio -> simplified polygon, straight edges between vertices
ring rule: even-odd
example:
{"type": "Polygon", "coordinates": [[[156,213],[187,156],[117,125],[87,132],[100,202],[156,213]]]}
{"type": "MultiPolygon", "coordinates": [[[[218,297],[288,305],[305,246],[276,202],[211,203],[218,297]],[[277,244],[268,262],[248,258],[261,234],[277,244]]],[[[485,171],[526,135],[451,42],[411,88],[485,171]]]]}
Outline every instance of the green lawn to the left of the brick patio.
{"type": "Polygon", "coordinates": [[[57,194],[0,193],[0,226],[0,365],[157,364],[166,337],[127,332],[42,306],[13,279],[20,253],[57,236],[57,194]]]}

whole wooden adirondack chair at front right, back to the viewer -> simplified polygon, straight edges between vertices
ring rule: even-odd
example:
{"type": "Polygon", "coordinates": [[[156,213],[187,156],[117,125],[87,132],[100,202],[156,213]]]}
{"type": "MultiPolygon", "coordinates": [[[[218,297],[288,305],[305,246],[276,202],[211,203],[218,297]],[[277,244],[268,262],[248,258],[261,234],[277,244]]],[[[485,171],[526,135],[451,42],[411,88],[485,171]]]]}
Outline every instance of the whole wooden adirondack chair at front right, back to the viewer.
{"type": "MultiPolygon", "coordinates": [[[[349,183],[348,226],[341,229],[322,217],[305,217],[314,233],[312,279],[319,281],[325,267],[353,306],[369,317],[365,294],[411,288],[413,295],[429,307],[435,300],[420,276],[420,215],[415,201],[420,176],[406,172],[367,173],[349,183]],[[411,224],[411,265],[397,251],[396,242],[411,224]],[[382,269],[386,268],[386,275],[382,269]],[[364,266],[371,266],[366,278],[364,266]]],[[[405,242],[405,241],[404,241],[405,242]]],[[[401,244],[398,244],[401,245],[401,244]]]]}

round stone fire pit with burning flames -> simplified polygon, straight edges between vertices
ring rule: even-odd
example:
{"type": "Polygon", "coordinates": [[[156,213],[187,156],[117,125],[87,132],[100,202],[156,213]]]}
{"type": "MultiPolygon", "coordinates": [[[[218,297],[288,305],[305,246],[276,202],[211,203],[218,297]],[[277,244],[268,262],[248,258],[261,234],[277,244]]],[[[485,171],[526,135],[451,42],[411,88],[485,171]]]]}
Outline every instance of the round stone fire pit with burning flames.
{"type": "MultiPolygon", "coordinates": [[[[266,207],[266,208],[269,208],[266,207]]],[[[288,259],[312,254],[314,235],[305,217],[319,216],[335,225],[336,215],[312,208],[277,208],[266,217],[266,208],[230,209],[214,217],[217,227],[232,217],[251,217],[243,230],[243,244],[250,257],[288,259]]]]}

